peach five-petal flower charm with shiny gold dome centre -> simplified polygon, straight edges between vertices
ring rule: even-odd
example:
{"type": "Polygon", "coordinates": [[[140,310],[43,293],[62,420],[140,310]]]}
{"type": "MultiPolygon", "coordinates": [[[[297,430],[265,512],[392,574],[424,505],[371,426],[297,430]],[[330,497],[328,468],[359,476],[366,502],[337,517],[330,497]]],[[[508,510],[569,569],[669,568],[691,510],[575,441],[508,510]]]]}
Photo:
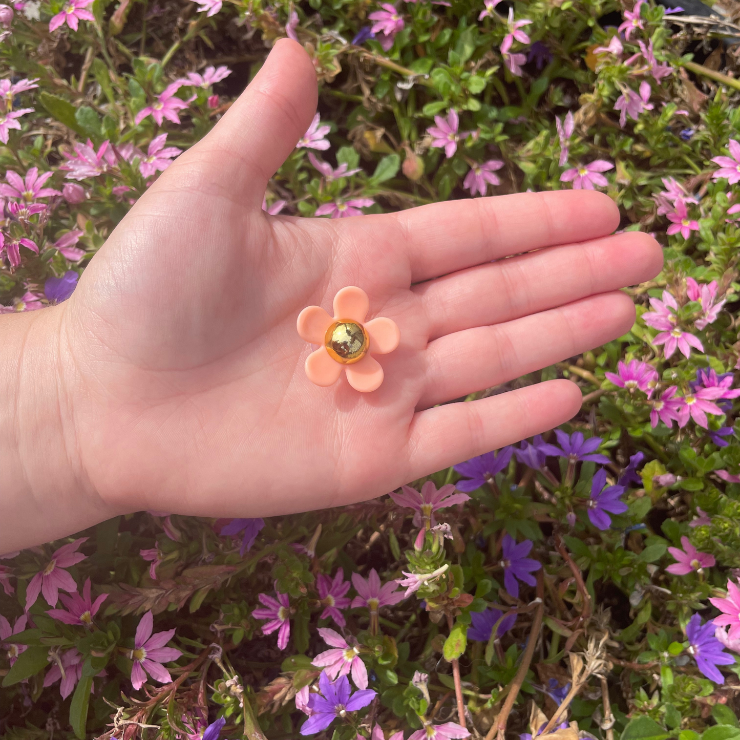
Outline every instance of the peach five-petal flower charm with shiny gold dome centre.
{"type": "Polygon", "coordinates": [[[391,319],[378,317],[365,323],[370,300],[361,288],[348,286],[334,296],[334,317],[320,306],[308,306],[298,315],[298,334],[319,344],[306,357],[306,375],[317,386],[332,386],[342,369],[349,385],[369,393],[383,383],[383,368],[373,354],[394,351],[401,339],[391,319]]]}

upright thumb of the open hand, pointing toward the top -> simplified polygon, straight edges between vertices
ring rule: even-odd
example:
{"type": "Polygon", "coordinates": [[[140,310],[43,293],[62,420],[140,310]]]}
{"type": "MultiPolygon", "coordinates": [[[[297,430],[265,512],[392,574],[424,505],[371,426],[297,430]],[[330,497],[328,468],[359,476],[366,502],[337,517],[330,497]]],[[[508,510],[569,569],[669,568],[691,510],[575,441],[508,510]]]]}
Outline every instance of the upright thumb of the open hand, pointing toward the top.
{"type": "Polygon", "coordinates": [[[262,203],[267,182],[306,133],[316,104],[309,55],[282,38],[226,115],[181,160],[194,157],[206,178],[262,203]]]}

